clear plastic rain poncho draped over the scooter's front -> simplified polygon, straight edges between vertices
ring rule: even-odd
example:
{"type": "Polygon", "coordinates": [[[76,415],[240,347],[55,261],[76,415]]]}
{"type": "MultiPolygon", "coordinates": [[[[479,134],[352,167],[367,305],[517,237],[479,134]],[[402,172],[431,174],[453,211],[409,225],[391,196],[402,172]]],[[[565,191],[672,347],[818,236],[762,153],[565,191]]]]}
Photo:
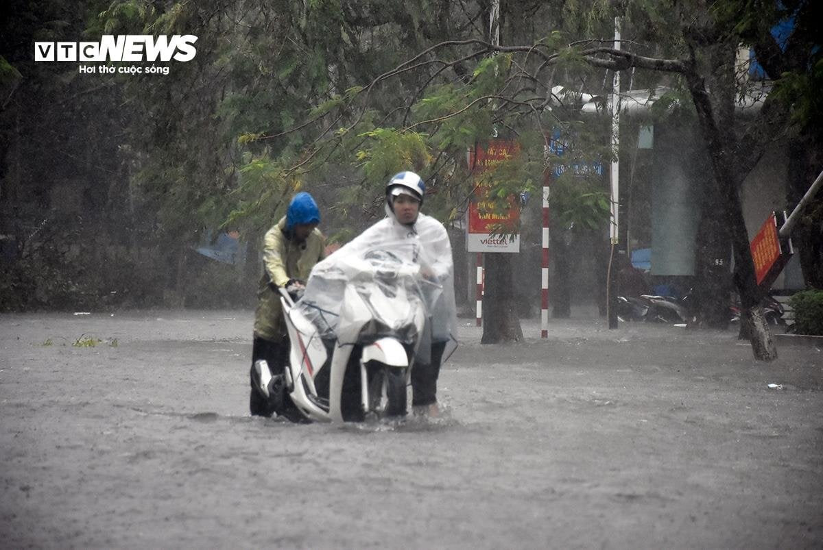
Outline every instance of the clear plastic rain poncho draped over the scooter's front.
{"type": "MultiPolygon", "coordinates": [[[[409,226],[400,224],[388,209],[387,213],[384,220],[314,266],[298,303],[300,311],[318,326],[324,339],[354,343],[361,334],[351,334],[339,321],[346,289],[355,289],[388,306],[374,307],[374,319],[361,333],[388,335],[393,326],[412,325],[407,321],[415,308],[424,307],[427,326],[421,352],[430,342],[456,342],[454,265],[446,229],[427,215],[418,215],[409,226]]],[[[394,335],[401,340],[421,336],[394,335]]]]}

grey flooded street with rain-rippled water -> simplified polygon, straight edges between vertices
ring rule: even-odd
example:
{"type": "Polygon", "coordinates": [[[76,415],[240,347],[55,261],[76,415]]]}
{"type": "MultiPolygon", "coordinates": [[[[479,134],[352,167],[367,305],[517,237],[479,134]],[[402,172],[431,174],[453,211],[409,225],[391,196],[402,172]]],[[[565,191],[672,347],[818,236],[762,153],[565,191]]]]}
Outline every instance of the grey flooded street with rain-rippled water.
{"type": "Polygon", "coordinates": [[[249,417],[252,321],[0,316],[2,547],[823,545],[814,347],[596,318],[488,346],[462,319],[441,417],[294,425],[249,417]]]}

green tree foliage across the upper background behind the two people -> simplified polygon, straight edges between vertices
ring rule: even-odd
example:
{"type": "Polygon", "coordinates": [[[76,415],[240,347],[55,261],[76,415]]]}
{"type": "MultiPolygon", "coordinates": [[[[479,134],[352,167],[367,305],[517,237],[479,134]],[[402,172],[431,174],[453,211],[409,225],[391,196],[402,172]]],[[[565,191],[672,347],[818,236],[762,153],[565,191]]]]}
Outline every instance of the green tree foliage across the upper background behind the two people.
{"type": "MultiPolygon", "coordinates": [[[[52,0],[14,8],[18,15],[2,33],[11,68],[0,65],[0,91],[7,94],[14,71],[21,74],[2,111],[3,135],[12,137],[4,143],[20,150],[4,145],[4,180],[14,180],[14,189],[48,182],[41,191],[48,195],[53,173],[65,167],[20,145],[46,144],[51,157],[67,159],[72,176],[95,181],[84,201],[109,222],[118,218],[119,238],[135,247],[152,243],[165,256],[160,263],[175,275],[164,284],[178,288],[188,274],[175,259],[207,230],[238,228],[252,240],[297,190],[329,205],[324,227],[351,232],[382,215],[382,184],[401,169],[424,175],[430,212],[458,217],[474,185],[467,148],[495,134],[522,147],[484,176],[495,178],[500,196],[542,182],[547,136],[558,128],[574,135],[574,155],[606,163],[616,153],[603,141],[614,70],[625,71],[633,88],[666,92],[659,116],[671,105],[696,116],[701,104],[692,99],[703,91],[711,91],[703,105],[727,113],[734,93],[700,83],[728,80],[718,59],[751,44],[775,80],[771,102],[784,106],[765,107],[763,124],[785,129],[777,115],[791,113],[796,128],[811,130],[820,108],[813,92],[821,50],[812,47],[819,8],[807,0],[516,0],[504,2],[500,46],[487,39],[488,2],[106,0],[68,7],[52,0]],[[624,25],[621,52],[611,44],[616,15],[624,25]],[[797,26],[781,49],[768,30],[787,15],[797,26]],[[167,76],[105,79],[78,79],[73,65],[30,62],[34,39],[103,34],[197,35],[198,54],[171,63],[167,76]],[[21,100],[23,86],[35,98],[30,105],[21,100]],[[584,93],[595,96],[599,118],[579,116],[584,93]],[[49,104],[59,107],[44,109],[49,104]],[[32,121],[25,130],[15,122],[21,118],[32,121]],[[10,168],[14,155],[40,160],[24,175],[10,168]]],[[[724,146],[730,155],[744,157],[758,150],[758,136],[774,135],[752,128],[739,142],[728,133],[716,137],[732,143],[724,146]]],[[[718,183],[736,188],[728,179],[718,183]]],[[[556,185],[564,223],[603,223],[605,190],[597,181],[560,178],[556,185]]],[[[27,207],[21,219],[30,232],[42,216],[27,207]]]]}

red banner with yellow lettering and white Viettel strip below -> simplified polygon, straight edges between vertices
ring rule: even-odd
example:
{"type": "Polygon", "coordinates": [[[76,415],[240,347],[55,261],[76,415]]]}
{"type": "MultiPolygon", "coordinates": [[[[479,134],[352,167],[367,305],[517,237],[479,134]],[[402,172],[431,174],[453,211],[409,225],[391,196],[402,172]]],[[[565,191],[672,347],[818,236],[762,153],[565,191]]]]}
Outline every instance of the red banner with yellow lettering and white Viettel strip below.
{"type": "MultiPolygon", "coordinates": [[[[517,141],[491,140],[485,147],[469,150],[468,162],[473,173],[483,173],[495,164],[518,155],[517,141]]],[[[508,205],[501,209],[498,201],[492,199],[491,183],[478,184],[468,206],[468,250],[469,252],[519,252],[519,236],[510,238],[500,233],[500,228],[517,227],[520,220],[520,206],[515,196],[509,196],[508,205]]],[[[505,229],[504,229],[505,231],[505,229]]]]}

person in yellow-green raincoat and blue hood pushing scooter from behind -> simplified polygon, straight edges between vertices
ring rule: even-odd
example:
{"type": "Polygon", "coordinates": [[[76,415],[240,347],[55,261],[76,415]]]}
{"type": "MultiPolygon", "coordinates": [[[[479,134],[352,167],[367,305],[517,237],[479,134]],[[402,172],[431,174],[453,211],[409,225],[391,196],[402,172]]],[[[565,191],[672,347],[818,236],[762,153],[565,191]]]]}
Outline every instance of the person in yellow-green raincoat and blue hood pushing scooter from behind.
{"type": "Polygon", "coordinates": [[[278,288],[290,293],[305,286],[314,264],[325,257],[325,238],[317,229],[320,210],[307,192],[297,193],[284,216],[263,239],[263,277],[254,314],[249,412],[257,416],[297,413],[288,396],[272,386],[281,381],[289,354],[278,288]],[[284,402],[286,401],[286,402],[284,402]],[[290,406],[291,405],[291,406],[290,406]]]}

